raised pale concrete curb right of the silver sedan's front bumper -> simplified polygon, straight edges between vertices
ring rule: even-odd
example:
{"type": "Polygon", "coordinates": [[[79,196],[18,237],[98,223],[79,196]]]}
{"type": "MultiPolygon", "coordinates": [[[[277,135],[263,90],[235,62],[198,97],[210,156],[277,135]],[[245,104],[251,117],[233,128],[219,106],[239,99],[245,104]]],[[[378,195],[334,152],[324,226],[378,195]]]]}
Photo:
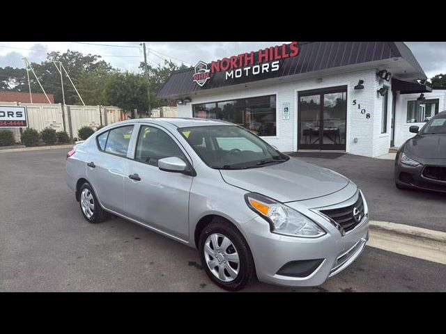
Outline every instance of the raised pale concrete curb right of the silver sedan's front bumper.
{"type": "Polygon", "coordinates": [[[408,237],[417,239],[430,239],[446,244],[446,232],[428,230],[427,228],[417,228],[404,224],[390,223],[388,221],[370,221],[369,227],[376,230],[384,230],[397,234],[405,234],[408,237]]]}

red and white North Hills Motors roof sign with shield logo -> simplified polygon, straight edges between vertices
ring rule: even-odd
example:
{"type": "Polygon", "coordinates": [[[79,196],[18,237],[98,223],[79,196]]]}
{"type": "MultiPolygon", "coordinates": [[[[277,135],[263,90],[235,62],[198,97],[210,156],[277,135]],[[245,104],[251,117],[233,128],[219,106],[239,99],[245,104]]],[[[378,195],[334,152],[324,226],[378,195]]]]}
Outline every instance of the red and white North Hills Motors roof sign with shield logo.
{"type": "Polygon", "coordinates": [[[218,72],[224,72],[225,80],[276,72],[279,70],[283,59],[295,57],[298,54],[298,42],[291,42],[290,44],[260,49],[257,53],[249,52],[223,58],[213,61],[210,66],[203,61],[199,61],[194,66],[192,81],[202,87],[213,74],[218,72]]]}

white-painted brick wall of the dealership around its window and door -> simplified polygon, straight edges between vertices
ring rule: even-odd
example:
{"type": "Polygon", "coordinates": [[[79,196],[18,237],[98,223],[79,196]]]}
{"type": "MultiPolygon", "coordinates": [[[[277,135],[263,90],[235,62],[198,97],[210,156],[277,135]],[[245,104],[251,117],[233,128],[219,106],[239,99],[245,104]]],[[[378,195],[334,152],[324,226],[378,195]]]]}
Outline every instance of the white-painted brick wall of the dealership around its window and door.
{"type": "MultiPolygon", "coordinates": [[[[390,83],[384,81],[390,86],[390,83]]],[[[380,114],[382,97],[376,90],[380,88],[376,77],[376,70],[362,70],[347,72],[344,74],[322,77],[322,80],[300,79],[287,83],[275,83],[265,86],[242,88],[227,88],[216,93],[199,93],[192,95],[192,103],[178,105],[178,117],[192,117],[192,104],[233,100],[243,97],[254,97],[260,95],[277,95],[277,136],[263,137],[268,143],[275,145],[283,152],[296,151],[298,148],[298,121],[296,117],[297,96],[300,90],[329,88],[333,86],[347,86],[347,129],[346,129],[346,151],[352,154],[361,154],[376,157],[387,152],[390,147],[390,118],[392,113],[392,93],[389,90],[389,101],[387,104],[387,134],[380,133],[380,114]],[[364,89],[354,90],[359,79],[364,80],[364,89]],[[357,104],[353,106],[353,100],[357,104]],[[290,105],[290,118],[284,120],[282,117],[282,106],[284,102],[290,105]],[[357,109],[366,109],[371,117],[366,118],[357,109]],[[353,139],[357,138],[357,143],[353,139]]]]}

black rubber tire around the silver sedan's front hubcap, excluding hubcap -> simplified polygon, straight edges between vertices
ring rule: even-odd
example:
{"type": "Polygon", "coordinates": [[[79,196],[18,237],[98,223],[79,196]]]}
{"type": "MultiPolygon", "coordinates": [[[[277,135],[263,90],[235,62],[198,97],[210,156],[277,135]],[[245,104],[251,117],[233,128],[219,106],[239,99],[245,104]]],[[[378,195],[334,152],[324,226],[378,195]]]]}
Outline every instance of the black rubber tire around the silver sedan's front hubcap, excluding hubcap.
{"type": "Polygon", "coordinates": [[[223,289],[229,291],[237,291],[242,289],[247,285],[252,278],[254,277],[255,268],[254,268],[254,260],[252,259],[251,250],[243,237],[243,235],[237,230],[235,226],[226,221],[224,218],[214,218],[213,221],[209,223],[201,231],[199,238],[199,253],[201,264],[203,265],[206,274],[210,278],[210,280],[222,287],[223,289]],[[206,239],[210,236],[210,234],[219,233],[223,234],[225,237],[228,237],[233,245],[236,247],[238,257],[239,257],[239,268],[237,277],[231,282],[224,282],[219,278],[215,277],[213,273],[210,271],[208,264],[206,264],[205,255],[204,255],[204,246],[206,243],[206,239]]]}

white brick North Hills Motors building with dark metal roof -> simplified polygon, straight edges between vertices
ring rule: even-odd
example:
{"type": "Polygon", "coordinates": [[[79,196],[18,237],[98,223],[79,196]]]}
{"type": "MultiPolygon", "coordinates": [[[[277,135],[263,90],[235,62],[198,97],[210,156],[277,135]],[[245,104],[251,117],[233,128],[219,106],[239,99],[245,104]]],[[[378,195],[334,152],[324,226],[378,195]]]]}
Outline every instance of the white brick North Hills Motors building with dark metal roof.
{"type": "Polygon", "coordinates": [[[228,120],[282,152],[378,157],[446,109],[446,90],[425,82],[403,42],[291,42],[199,61],[157,97],[176,100],[178,117],[228,120]]]}

